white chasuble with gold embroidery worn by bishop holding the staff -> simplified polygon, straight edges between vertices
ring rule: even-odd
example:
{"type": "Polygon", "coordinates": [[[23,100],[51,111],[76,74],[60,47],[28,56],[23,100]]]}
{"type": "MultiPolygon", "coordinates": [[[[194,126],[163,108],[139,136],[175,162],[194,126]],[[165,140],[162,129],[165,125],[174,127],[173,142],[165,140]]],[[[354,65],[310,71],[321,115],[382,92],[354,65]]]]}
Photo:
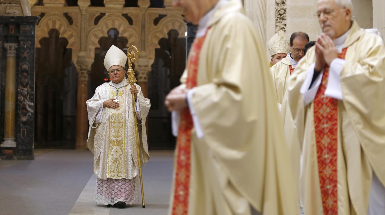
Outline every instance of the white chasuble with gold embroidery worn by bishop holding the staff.
{"type": "MultiPolygon", "coordinates": [[[[132,179],[138,174],[133,115],[136,111],[132,110],[130,88],[127,83],[119,89],[114,88],[111,83],[104,83],[96,88],[94,96],[87,101],[91,125],[87,147],[94,153],[94,172],[99,179],[132,179]],[[111,98],[119,101],[119,108],[103,108],[103,102],[111,98]]],[[[140,112],[138,119],[145,122],[150,100],[143,97],[139,85],[136,84],[136,88],[140,112]]],[[[144,164],[149,159],[145,123],[138,122],[138,132],[144,164]]]]}

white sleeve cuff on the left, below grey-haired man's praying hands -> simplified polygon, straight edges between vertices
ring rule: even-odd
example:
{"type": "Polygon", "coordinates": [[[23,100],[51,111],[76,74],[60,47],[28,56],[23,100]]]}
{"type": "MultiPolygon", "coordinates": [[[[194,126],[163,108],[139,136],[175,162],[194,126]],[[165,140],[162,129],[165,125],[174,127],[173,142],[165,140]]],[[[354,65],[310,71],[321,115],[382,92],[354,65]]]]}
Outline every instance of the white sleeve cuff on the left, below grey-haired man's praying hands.
{"type": "Polygon", "coordinates": [[[306,71],[306,78],[300,89],[300,92],[303,95],[303,101],[305,103],[305,106],[307,106],[314,100],[317,94],[318,88],[320,87],[322,76],[323,76],[323,71],[321,71],[321,74],[318,75],[313,85],[311,85],[310,87],[311,80],[313,80],[314,68],[315,68],[315,63],[311,64],[309,69],[306,71]]]}

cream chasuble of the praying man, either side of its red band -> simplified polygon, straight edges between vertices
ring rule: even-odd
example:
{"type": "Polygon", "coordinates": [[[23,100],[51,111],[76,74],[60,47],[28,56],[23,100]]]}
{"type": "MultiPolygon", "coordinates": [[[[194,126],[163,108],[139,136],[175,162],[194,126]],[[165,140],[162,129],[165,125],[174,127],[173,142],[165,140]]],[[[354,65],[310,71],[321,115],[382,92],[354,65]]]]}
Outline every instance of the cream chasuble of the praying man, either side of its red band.
{"type": "MultiPolygon", "coordinates": [[[[373,171],[385,185],[385,46],[353,22],[343,48],[343,100],[338,100],[338,215],[367,214],[373,171]]],[[[288,105],[301,146],[300,197],[305,214],[323,215],[318,172],[314,104],[304,105],[300,88],[315,62],[311,48],[288,81],[288,105]]]]}

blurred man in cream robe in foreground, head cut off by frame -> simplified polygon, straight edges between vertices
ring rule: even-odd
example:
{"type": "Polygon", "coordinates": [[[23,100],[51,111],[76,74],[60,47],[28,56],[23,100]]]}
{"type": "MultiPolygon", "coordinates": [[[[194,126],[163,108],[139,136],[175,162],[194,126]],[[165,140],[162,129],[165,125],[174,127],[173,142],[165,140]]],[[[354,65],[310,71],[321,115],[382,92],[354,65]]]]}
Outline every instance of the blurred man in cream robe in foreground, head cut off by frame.
{"type": "Polygon", "coordinates": [[[165,101],[180,119],[170,214],[297,215],[265,47],[241,1],[174,4],[199,27],[182,84],[165,101]]]}

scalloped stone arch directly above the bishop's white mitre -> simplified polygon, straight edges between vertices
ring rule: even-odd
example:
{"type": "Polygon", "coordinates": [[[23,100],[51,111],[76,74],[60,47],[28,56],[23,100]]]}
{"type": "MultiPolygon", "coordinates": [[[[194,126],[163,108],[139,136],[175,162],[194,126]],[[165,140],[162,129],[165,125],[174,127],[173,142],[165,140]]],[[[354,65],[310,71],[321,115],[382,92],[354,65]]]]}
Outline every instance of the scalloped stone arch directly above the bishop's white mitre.
{"type": "Polygon", "coordinates": [[[90,28],[87,41],[87,56],[90,62],[94,61],[95,48],[99,47],[99,38],[108,36],[107,32],[111,28],[116,28],[119,31],[119,36],[126,37],[128,46],[139,46],[139,29],[129,24],[129,22],[122,15],[109,14],[103,17],[97,26],[90,28]]]}

